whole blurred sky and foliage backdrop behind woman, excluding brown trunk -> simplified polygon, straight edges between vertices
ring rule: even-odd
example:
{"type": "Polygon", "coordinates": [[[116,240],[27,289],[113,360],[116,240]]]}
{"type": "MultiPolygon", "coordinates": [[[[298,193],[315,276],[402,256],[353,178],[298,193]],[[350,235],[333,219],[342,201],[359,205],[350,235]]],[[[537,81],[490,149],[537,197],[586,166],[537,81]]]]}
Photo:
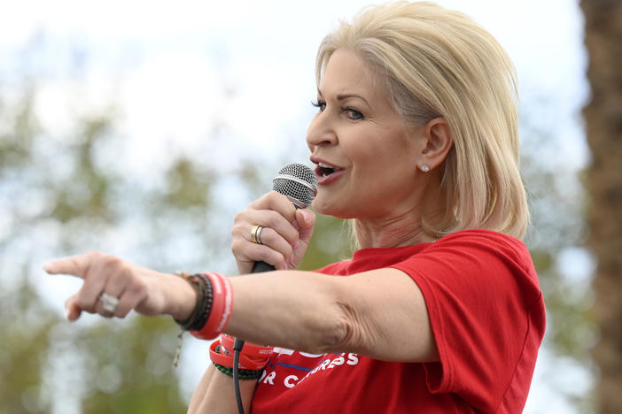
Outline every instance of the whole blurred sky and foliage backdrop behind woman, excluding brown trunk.
{"type": "MultiPolygon", "coordinates": [[[[163,272],[234,274],[230,226],[307,163],[315,50],[367,1],[5,2],[0,12],[0,412],[184,412],[209,363],[170,318],[70,324],[79,280],[41,264],[98,249],[163,272]]],[[[525,412],[595,412],[589,97],[575,0],[439,1],[517,65],[526,243],[548,331],[525,412]]],[[[304,268],[348,254],[322,218],[304,268]]]]}

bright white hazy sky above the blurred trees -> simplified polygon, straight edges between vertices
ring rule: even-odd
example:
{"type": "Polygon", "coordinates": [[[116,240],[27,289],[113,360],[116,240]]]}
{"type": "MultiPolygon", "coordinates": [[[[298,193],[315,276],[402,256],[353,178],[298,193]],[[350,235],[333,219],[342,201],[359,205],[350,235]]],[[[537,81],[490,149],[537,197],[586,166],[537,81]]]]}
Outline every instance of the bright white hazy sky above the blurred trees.
{"type": "MultiPolygon", "coordinates": [[[[437,3],[469,14],[509,52],[521,113],[559,143],[550,162],[574,171],[586,165],[580,109],[589,92],[578,2],[437,3]]],[[[284,146],[302,157],[292,161],[305,162],[315,50],[338,19],[367,4],[0,0],[0,88],[10,89],[23,74],[24,50],[40,50],[31,66],[43,127],[62,140],[76,116],[113,107],[127,137],[117,161],[136,176],[164,168],[171,151],[199,151],[225,171],[235,168],[236,157],[261,163],[284,146]],[[226,127],[206,146],[215,126],[226,127]]],[[[551,384],[539,373],[547,364],[539,363],[525,412],[572,412],[556,388],[587,387],[585,375],[568,368],[571,375],[551,384]]],[[[186,368],[188,387],[202,368],[186,368]]]]}

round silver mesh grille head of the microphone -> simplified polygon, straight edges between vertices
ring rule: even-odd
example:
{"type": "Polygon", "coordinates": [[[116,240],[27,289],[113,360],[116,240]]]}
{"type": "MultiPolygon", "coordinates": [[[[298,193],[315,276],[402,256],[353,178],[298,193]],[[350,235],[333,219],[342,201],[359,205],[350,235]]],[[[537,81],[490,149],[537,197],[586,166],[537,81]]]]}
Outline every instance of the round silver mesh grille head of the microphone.
{"type": "Polygon", "coordinates": [[[317,193],[315,173],[307,165],[295,163],[284,165],[272,184],[277,193],[287,196],[292,203],[301,208],[311,205],[317,193]]]}

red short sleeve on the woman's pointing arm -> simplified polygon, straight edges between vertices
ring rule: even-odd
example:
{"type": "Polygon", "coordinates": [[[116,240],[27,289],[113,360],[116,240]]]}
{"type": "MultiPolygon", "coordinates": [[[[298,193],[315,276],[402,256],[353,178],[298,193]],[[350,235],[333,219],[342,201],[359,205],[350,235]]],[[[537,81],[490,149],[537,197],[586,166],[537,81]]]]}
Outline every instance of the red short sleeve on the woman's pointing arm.
{"type": "Polygon", "coordinates": [[[391,267],[424,295],[440,356],[425,364],[430,392],[459,395],[484,412],[522,410],[545,326],[525,244],[468,230],[391,267]]]}

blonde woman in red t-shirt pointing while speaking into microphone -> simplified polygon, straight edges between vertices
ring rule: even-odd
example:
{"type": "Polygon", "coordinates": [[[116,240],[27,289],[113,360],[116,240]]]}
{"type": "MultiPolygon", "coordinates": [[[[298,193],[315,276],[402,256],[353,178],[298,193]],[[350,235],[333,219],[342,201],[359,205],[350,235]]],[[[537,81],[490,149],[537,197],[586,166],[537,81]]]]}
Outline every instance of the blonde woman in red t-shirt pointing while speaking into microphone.
{"type": "Polygon", "coordinates": [[[244,276],[61,259],[46,270],[84,279],[67,318],[136,309],[199,337],[227,334],[190,412],[236,412],[232,336],[279,347],[242,351],[255,413],[520,412],[545,313],[519,240],[528,211],[509,58],[461,13],[387,4],[324,39],[317,81],[313,207],[352,219],[351,260],[294,270],[315,215],[270,192],[235,220],[244,276]],[[256,261],[276,271],[248,274],[256,261]]]}

